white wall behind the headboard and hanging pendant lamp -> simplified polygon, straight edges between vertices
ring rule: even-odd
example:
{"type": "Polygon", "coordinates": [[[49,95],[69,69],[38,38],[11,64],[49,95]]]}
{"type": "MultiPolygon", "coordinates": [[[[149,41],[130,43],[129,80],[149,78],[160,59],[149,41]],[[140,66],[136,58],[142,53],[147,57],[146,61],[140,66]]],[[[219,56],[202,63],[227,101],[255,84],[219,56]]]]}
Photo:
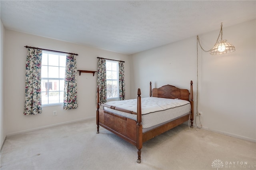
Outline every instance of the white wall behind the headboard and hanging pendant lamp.
{"type": "MultiPolygon", "coordinates": [[[[223,27],[223,39],[236,47],[225,55],[199,49],[198,111],[204,128],[256,142],[256,20],[223,27]]],[[[220,30],[199,35],[202,46],[213,47],[220,30]]],[[[196,113],[196,36],[143,51],[131,58],[131,92],[171,84],[189,89],[194,82],[196,113]]],[[[131,97],[136,97],[131,93],[131,97]]],[[[199,123],[197,119],[197,123],[199,123]]]]}

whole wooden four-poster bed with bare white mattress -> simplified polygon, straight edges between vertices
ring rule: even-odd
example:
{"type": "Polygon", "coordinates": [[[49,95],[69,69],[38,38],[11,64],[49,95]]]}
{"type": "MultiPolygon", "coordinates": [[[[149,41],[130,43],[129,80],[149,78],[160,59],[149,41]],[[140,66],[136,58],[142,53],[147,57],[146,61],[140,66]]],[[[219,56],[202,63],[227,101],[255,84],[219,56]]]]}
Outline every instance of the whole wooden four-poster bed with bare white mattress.
{"type": "Polygon", "coordinates": [[[141,92],[138,89],[137,99],[100,103],[99,89],[97,89],[98,104],[96,110],[97,133],[99,133],[99,127],[101,126],[136,146],[138,149],[138,163],[141,162],[143,142],[189,121],[189,119],[190,126],[193,128],[194,120],[192,81],[190,81],[190,93],[187,89],[179,89],[172,85],[164,85],[160,88],[152,89],[150,82],[150,97],[144,99],[140,95],[141,92]],[[156,105],[162,108],[161,111],[154,110],[152,107],[154,105],[152,102],[154,101],[157,101],[156,105]],[[119,102],[123,103],[120,104],[119,102]],[[172,102],[174,104],[171,104],[172,102]],[[177,104],[180,102],[182,104],[177,104]],[[145,103],[148,103],[151,107],[145,108],[145,103]],[[169,106],[169,104],[166,105],[166,103],[170,103],[174,107],[169,106]],[[172,115],[173,113],[170,113],[173,111],[175,116],[168,116],[168,114],[172,115]],[[166,120],[157,120],[153,116],[159,116],[160,113],[162,115],[161,118],[166,117],[166,120]],[[150,119],[154,123],[149,125],[146,122],[150,122],[150,119]]]}

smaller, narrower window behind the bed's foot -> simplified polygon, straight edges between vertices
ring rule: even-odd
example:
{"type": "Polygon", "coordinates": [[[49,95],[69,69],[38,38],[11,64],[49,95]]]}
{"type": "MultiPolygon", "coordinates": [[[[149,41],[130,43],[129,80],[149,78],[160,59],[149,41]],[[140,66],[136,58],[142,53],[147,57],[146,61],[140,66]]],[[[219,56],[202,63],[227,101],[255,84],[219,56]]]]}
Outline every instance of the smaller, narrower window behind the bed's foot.
{"type": "Polygon", "coordinates": [[[119,97],[118,62],[106,60],[107,99],[119,97]]]}

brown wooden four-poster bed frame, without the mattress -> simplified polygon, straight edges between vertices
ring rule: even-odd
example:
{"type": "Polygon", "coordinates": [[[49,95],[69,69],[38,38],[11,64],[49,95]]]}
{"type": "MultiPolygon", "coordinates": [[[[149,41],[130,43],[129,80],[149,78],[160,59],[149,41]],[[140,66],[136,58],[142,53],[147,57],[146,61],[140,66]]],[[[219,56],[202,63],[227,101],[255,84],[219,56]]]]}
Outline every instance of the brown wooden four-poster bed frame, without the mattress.
{"type": "Polygon", "coordinates": [[[193,102],[193,83],[190,81],[190,93],[187,89],[179,89],[172,85],[164,85],[160,88],[154,88],[151,90],[151,82],[150,82],[150,97],[162,97],[168,99],[183,99],[190,101],[191,105],[191,113],[184,115],[174,121],[168,122],[164,125],[159,127],[153,128],[147,132],[142,132],[142,115],[141,115],[141,97],[140,97],[140,89],[138,89],[138,97],[137,97],[137,113],[133,111],[128,111],[125,109],[120,109],[118,107],[110,106],[101,104],[99,102],[99,88],[97,89],[97,111],[96,111],[96,125],[97,125],[97,133],[99,133],[99,126],[108,129],[110,132],[113,132],[117,136],[123,138],[127,142],[133,144],[138,149],[138,160],[137,162],[141,162],[141,149],[142,143],[174,128],[190,119],[191,121],[191,128],[193,128],[193,120],[194,120],[194,102],[193,102]],[[189,98],[190,95],[190,98],[189,98]],[[137,121],[132,119],[122,117],[120,115],[116,115],[114,113],[104,111],[100,109],[100,105],[104,107],[108,107],[111,109],[115,109],[118,111],[136,114],[137,121]]]}

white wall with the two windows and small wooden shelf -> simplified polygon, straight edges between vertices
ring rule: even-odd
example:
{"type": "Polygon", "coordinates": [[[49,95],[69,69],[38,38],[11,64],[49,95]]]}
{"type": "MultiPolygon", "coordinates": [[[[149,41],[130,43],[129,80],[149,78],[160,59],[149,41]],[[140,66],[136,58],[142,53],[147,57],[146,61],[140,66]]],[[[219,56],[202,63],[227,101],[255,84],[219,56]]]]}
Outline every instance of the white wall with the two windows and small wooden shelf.
{"type": "Polygon", "coordinates": [[[62,109],[62,105],[58,105],[43,107],[42,114],[39,115],[23,115],[25,64],[28,53],[28,49],[24,47],[26,45],[78,53],[77,69],[81,70],[97,71],[98,59],[96,57],[125,61],[126,99],[130,98],[130,57],[128,55],[10,30],[5,31],[4,45],[4,112],[7,136],[96,117],[97,73],[94,76],[92,73],[81,73],[79,76],[78,73],[78,109],[66,111],[62,109]],[[57,116],[52,114],[55,110],[57,116]]]}

